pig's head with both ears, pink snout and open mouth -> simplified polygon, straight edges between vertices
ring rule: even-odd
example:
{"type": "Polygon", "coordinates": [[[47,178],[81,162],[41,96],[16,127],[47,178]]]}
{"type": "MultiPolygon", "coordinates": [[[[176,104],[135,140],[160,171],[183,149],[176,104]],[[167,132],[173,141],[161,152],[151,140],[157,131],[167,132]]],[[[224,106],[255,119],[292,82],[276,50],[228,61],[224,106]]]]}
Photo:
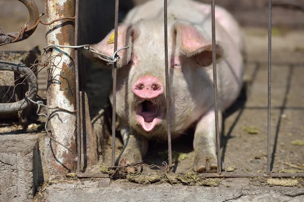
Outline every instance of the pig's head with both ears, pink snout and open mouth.
{"type": "MultiPolygon", "coordinates": [[[[188,98],[201,96],[193,91],[193,79],[206,80],[204,88],[212,87],[203,67],[212,63],[212,45],[192,25],[186,22],[170,22],[169,29],[169,83],[172,108],[173,137],[185,130],[198,117],[193,117],[195,105],[188,104],[188,98]],[[205,78],[204,78],[205,77],[205,78]],[[177,108],[177,109],[176,109],[177,108]],[[183,108],[182,112],[179,108],[183,108]],[[183,116],[185,117],[176,117],[183,116]],[[189,117],[191,120],[188,120],[189,117]]],[[[99,52],[113,54],[113,43],[108,38],[113,30],[98,44],[93,45],[99,52]]],[[[147,138],[166,139],[167,109],[164,58],[164,28],[159,21],[140,21],[133,25],[121,24],[118,28],[119,52],[117,77],[117,114],[132,130],[147,138]]],[[[217,59],[223,55],[220,45],[216,46],[217,59]]],[[[209,96],[208,94],[205,97],[209,96]]],[[[205,98],[206,99],[206,98],[205,98]]],[[[208,98],[209,99],[209,98],[208,98]]],[[[195,102],[195,100],[193,100],[195,102]]],[[[200,110],[201,111],[201,110],[200,110]]]]}

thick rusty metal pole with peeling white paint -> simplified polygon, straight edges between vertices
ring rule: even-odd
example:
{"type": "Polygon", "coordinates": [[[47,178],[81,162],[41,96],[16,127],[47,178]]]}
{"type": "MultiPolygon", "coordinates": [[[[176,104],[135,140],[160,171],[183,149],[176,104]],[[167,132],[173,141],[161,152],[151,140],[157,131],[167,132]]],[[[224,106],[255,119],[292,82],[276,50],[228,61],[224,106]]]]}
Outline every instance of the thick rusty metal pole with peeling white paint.
{"type": "MultiPolygon", "coordinates": [[[[74,17],[74,0],[46,0],[46,21],[74,17]]],[[[62,20],[47,26],[46,41],[49,44],[74,45],[74,21],[62,20]]],[[[56,67],[51,67],[48,76],[48,107],[60,107],[69,111],[76,109],[74,49],[53,47],[48,53],[53,57],[56,67]],[[60,57],[54,57],[60,56],[60,57]]],[[[54,139],[67,146],[64,148],[54,141],[48,141],[51,154],[48,158],[49,171],[52,174],[75,171],[77,167],[77,117],[76,113],[49,110],[48,130],[54,139]]],[[[48,145],[47,145],[48,146],[48,145]]]]}

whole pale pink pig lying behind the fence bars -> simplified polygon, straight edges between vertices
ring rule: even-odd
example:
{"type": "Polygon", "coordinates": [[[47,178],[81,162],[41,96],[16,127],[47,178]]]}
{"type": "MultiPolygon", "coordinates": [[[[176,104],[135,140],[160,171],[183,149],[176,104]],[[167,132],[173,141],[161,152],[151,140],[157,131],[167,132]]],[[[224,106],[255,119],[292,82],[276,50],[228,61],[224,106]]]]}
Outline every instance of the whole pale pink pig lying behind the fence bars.
{"type": "MultiPolygon", "coordinates": [[[[117,162],[142,161],[149,139],[167,139],[164,1],[136,6],[118,27],[117,104],[124,149],[117,162]]],[[[233,16],[215,7],[219,126],[222,112],[242,87],[244,43],[233,16]]],[[[113,54],[114,30],[97,44],[113,54]]],[[[192,0],[168,1],[168,63],[171,138],[195,127],[196,172],[217,170],[212,70],[211,5],[192,0]]],[[[96,54],[90,56],[97,58],[96,54]]],[[[101,63],[106,62],[99,60],[101,63]]],[[[110,93],[112,103],[113,94],[110,93]]],[[[128,167],[129,172],[135,169],[128,167]]]]}

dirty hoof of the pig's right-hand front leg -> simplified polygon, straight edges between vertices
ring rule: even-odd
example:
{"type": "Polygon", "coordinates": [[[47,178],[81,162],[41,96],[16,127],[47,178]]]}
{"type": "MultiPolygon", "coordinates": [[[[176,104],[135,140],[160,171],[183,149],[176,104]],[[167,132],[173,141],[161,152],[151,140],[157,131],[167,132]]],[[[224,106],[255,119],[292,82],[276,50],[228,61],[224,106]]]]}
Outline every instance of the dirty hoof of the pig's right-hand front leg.
{"type": "Polygon", "coordinates": [[[198,173],[213,173],[217,171],[217,161],[214,158],[197,157],[193,168],[198,173]]]}

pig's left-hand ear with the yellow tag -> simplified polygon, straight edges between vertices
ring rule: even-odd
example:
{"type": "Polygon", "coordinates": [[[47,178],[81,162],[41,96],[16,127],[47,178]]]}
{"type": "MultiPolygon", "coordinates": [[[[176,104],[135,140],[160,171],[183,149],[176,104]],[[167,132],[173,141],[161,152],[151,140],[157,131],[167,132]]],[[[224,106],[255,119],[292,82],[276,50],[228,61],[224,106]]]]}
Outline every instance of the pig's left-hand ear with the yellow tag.
{"type": "MultiPolygon", "coordinates": [[[[129,46],[129,48],[123,49],[122,51],[118,52],[118,55],[120,56],[120,60],[117,62],[118,67],[123,67],[124,65],[127,65],[129,63],[132,52],[132,42],[138,37],[138,35],[138,29],[125,24],[119,25],[117,49],[120,49],[125,46],[129,46]]],[[[102,54],[112,56],[114,53],[114,36],[115,35],[113,29],[110,33],[106,35],[106,37],[102,41],[90,46],[95,48],[98,52],[102,54]]],[[[86,55],[91,60],[106,63],[105,61],[99,59],[97,54],[91,54],[90,56],[88,56],[88,54],[86,55]]]]}

